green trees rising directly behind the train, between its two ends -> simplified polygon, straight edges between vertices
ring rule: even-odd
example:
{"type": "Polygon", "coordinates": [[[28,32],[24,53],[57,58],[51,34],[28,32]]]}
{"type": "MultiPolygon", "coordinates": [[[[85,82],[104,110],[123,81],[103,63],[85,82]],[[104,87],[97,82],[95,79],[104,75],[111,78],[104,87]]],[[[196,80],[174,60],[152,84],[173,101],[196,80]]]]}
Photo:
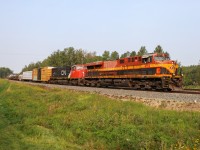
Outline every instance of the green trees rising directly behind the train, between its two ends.
{"type": "MultiPolygon", "coordinates": [[[[158,45],[155,50],[155,53],[166,53],[160,45],[158,45]]],[[[125,58],[130,56],[142,56],[147,54],[148,51],[145,46],[141,46],[138,52],[136,51],[126,51],[125,53],[119,55],[117,51],[108,51],[105,50],[101,56],[97,56],[96,52],[87,52],[83,49],[75,49],[73,47],[65,48],[64,50],[57,50],[53,52],[50,56],[48,56],[43,61],[38,61],[36,63],[30,63],[26,65],[23,71],[32,70],[34,68],[45,67],[45,66],[72,66],[75,64],[85,64],[95,61],[105,61],[105,60],[116,60],[119,58],[125,58]]]]}

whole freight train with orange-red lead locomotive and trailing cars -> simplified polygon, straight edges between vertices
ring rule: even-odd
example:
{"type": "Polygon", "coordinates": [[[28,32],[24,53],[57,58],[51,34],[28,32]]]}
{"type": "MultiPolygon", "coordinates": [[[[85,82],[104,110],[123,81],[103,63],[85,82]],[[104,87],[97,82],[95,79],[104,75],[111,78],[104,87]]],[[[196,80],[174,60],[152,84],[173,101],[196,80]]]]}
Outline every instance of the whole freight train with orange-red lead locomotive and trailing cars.
{"type": "Polygon", "coordinates": [[[19,80],[52,84],[171,91],[182,87],[179,66],[166,54],[97,61],[67,67],[43,67],[23,72],[19,80]]]}

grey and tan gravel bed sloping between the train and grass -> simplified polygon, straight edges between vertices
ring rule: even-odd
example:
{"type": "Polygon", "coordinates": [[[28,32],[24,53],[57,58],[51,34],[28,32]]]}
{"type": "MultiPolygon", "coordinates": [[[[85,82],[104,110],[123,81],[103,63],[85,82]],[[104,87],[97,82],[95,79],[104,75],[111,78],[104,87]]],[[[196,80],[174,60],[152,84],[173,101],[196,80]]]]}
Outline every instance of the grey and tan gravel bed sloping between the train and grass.
{"type": "MultiPolygon", "coordinates": [[[[16,82],[16,81],[14,81],[16,82]]],[[[18,82],[18,81],[17,81],[18,82]]],[[[97,88],[85,86],[68,86],[43,84],[32,82],[20,82],[31,85],[42,85],[47,88],[63,88],[81,92],[96,93],[107,96],[113,100],[135,101],[155,108],[162,108],[177,111],[198,111],[200,112],[200,94],[181,94],[156,91],[139,91],[116,88],[97,88]]]]}

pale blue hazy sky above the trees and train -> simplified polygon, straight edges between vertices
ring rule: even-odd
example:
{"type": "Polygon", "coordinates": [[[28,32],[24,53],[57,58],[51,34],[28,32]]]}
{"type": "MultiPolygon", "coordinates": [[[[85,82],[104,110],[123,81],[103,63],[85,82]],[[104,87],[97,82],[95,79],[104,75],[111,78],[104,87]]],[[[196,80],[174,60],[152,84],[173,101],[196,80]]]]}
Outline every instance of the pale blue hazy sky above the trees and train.
{"type": "Polygon", "coordinates": [[[200,60],[200,0],[0,0],[0,67],[14,72],[66,47],[138,51],[157,45],[200,60]]]}

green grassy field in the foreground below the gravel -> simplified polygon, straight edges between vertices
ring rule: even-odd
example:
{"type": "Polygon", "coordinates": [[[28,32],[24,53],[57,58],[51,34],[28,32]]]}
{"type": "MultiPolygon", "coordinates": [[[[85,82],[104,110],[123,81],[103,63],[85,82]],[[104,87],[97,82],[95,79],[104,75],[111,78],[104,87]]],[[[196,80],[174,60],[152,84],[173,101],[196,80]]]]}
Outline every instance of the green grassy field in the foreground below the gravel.
{"type": "Polygon", "coordinates": [[[0,149],[200,149],[200,112],[0,80],[0,149]]]}

